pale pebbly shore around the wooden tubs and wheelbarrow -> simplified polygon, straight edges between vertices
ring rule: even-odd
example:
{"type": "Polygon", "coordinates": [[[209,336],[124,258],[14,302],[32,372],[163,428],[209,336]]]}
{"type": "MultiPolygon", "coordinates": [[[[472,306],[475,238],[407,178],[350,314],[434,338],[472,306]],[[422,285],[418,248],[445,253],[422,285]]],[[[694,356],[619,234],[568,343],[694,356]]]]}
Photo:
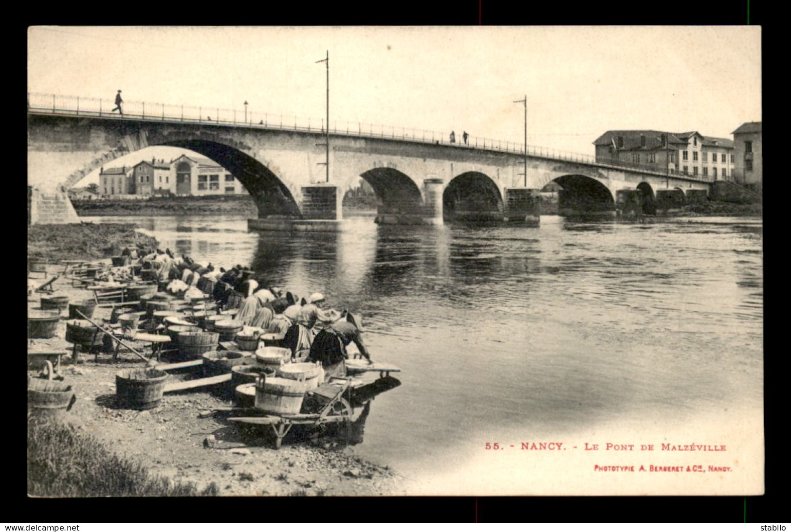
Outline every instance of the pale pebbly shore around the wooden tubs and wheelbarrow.
{"type": "MultiPolygon", "coordinates": [[[[62,273],[62,266],[48,266],[48,276],[62,273]]],[[[47,277],[47,278],[49,278],[47,277]]],[[[41,282],[44,282],[42,279],[41,282]]],[[[85,300],[92,292],[74,288],[60,277],[55,296],[85,300]]],[[[28,310],[40,307],[40,296],[28,296],[28,310]]],[[[109,319],[111,309],[97,308],[94,318],[109,319]]],[[[64,313],[66,314],[66,313],[64,313]]],[[[66,319],[51,339],[28,341],[28,350],[62,350],[66,342],[66,319]]],[[[132,342],[143,354],[150,347],[132,342]]],[[[156,409],[137,411],[115,404],[115,374],[146,363],[122,350],[118,360],[109,354],[81,354],[78,364],[63,357],[61,375],[77,394],[77,402],[65,420],[81,431],[97,436],[119,455],[138,460],[152,474],[173,480],[192,481],[199,489],[214,482],[221,496],[377,496],[403,495],[403,482],[387,466],[365,462],[353,447],[324,434],[299,432],[286,438],[279,450],[271,447],[267,433],[242,434],[222,413],[199,417],[199,413],[232,402],[216,389],[165,394],[156,409]],[[214,438],[212,439],[212,436],[214,438]],[[206,441],[206,440],[209,441],[206,441]]],[[[36,368],[28,370],[39,375],[36,368]]],[[[184,375],[173,375],[180,379],[184,375]]],[[[267,429],[268,430],[268,429],[267,429]]],[[[297,431],[294,428],[292,432],[297,431]]]]}

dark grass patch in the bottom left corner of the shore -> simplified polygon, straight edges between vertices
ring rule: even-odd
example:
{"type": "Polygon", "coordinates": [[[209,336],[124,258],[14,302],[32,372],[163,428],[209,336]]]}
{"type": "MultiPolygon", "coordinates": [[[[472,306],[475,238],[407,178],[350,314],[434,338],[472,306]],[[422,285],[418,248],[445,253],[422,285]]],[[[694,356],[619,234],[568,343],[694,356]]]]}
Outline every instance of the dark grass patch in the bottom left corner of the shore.
{"type": "Polygon", "coordinates": [[[70,424],[28,416],[29,496],[215,496],[218,491],[214,482],[199,490],[192,482],[154,476],[70,424]]]}

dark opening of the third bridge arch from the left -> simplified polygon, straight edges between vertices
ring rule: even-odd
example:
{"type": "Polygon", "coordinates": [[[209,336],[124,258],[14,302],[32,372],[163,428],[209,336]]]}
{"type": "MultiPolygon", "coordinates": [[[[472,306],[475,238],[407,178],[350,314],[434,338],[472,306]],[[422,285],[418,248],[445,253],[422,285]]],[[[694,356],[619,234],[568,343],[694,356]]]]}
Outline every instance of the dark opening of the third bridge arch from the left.
{"type": "Polygon", "coordinates": [[[501,219],[503,211],[500,187],[481,172],[464,172],[448,182],[442,192],[445,220],[501,219]]]}

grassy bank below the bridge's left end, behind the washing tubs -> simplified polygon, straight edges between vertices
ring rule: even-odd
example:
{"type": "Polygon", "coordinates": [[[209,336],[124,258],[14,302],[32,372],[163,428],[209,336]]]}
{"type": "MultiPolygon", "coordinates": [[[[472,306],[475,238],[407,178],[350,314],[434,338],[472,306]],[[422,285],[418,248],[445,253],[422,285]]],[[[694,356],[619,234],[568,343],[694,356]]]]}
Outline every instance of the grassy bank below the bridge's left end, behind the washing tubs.
{"type": "Polygon", "coordinates": [[[153,236],[135,231],[134,224],[44,224],[28,227],[28,258],[63,260],[121,255],[127,245],[157,247],[153,236]]]}

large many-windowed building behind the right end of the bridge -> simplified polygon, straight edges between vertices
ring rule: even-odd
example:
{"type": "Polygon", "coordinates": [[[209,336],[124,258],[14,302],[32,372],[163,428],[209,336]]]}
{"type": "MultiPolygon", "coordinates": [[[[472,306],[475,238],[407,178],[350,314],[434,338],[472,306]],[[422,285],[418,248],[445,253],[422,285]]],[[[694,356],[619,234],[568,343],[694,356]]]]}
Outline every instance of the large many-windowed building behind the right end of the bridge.
{"type": "Polygon", "coordinates": [[[716,181],[733,179],[733,141],[698,131],[611,130],[596,141],[596,162],[716,181]]]}

